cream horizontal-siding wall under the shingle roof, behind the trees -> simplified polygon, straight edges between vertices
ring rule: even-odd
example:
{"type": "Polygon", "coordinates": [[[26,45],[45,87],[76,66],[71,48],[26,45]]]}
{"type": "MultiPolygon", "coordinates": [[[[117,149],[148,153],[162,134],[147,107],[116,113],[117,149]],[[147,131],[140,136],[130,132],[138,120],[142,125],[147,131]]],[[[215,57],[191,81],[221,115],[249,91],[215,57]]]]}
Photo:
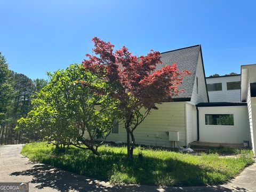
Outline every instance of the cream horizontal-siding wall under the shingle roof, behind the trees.
{"type": "MultiPolygon", "coordinates": [[[[179,131],[180,141],[177,144],[186,145],[185,103],[164,102],[158,105],[158,110],[152,110],[151,114],[134,131],[137,144],[172,147],[166,132],[179,131]]],[[[107,141],[126,142],[126,131],[123,124],[119,125],[119,133],[111,133],[107,141]]]]}

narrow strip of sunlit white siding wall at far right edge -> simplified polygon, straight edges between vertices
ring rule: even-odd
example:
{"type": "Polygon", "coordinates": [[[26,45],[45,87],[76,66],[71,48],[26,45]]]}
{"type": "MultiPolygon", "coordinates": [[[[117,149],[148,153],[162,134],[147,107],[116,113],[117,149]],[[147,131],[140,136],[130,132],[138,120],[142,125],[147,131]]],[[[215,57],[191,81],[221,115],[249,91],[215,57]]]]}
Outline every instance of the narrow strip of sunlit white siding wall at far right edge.
{"type": "Polygon", "coordinates": [[[254,154],[256,154],[256,142],[254,141],[254,139],[256,138],[256,133],[253,130],[253,126],[255,127],[255,117],[254,117],[255,114],[254,113],[256,111],[256,98],[251,98],[250,82],[248,84],[247,107],[248,107],[248,113],[249,113],[252,148],[253,148],[254,154]]]}

